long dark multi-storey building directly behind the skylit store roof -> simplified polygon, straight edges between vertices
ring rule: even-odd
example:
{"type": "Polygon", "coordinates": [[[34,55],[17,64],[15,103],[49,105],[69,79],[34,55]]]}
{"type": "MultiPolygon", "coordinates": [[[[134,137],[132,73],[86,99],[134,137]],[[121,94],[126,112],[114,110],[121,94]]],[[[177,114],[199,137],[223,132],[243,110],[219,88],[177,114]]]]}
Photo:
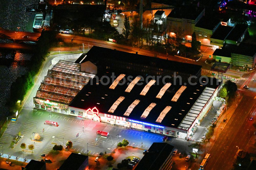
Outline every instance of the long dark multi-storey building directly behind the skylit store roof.
{"type": "MultiPolygon", "coordinates": [[[[100,72],[123,72],[129,74],[174,76],[176,73],[183,80],[189,76],[201,76],[201,66],[164,60],[134,53],[127,53],[110,48],[93,46],[87,54],[81,55],[76,63],[90,61],[97,66],[100,72]],[[86,57],[85,57],[86,55],[86,57]]],[[[87,66],[88,67],[88,66],[87,66]]]]}

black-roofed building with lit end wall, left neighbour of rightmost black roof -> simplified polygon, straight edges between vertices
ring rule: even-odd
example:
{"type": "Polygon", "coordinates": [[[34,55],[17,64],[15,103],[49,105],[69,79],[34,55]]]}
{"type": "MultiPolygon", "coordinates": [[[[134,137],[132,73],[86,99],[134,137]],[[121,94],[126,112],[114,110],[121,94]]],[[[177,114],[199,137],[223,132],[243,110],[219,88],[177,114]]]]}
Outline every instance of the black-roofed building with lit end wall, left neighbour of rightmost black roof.
{"type": "Polygon", "coordinates": [[[218,29],[212,34],[210,44],[215,45],[217,48],[223,47],[224,41],[233,27],[219,26],[218,29]]]}

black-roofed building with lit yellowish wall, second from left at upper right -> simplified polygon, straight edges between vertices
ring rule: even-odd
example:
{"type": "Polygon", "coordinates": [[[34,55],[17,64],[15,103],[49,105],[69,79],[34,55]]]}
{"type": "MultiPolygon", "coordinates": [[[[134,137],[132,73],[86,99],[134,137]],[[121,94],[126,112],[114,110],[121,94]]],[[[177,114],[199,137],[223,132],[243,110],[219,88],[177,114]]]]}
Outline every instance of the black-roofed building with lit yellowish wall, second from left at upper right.
{"type": "Polygon", "coordinates": [[[202,17],[195,25],[197,41],[202,45],[210,45],[210,37],[220,26],[220,20],[212,17],[202,17]]]}

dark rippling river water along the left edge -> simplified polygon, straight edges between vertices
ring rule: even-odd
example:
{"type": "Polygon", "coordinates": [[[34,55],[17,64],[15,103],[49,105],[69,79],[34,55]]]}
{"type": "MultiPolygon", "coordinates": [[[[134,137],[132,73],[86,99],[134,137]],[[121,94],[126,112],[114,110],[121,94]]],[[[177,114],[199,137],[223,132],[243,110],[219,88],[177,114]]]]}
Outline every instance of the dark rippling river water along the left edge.
{"type": "MultiPolygon", "coordinates": [[[[26,12],[26,6],[37,4],[39,0],[1,0],[0,2],[0,28],[12,31],[33,32],[33,22],[35,13],[26,12]]],[[[0,43],[9,42],[9,40],[0,39],[0,43]]],[[[10,50],[0,50],[0,58],[11,58],[10,50]]],[[[19,76],[26,73],[26,60],[29,60],[32,54],[16,51],[14,59],[10,64],[0,63],[0,119],[8,114],[5,107],[6,99],[10,94],[12,82],[19,76]]]]}

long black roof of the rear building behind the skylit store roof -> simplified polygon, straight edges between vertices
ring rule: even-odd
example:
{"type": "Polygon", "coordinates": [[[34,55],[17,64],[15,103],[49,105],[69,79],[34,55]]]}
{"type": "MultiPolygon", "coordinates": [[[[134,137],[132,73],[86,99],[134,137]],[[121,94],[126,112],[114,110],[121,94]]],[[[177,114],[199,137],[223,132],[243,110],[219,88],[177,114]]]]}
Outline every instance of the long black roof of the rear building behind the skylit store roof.
{"type": "Polygon", "coordinates": [[[113,60],[126,62],[131,64],[141,64],[147,66],[154,66],[156,68],[163,68],[168,70],[173,70],[176,72],[187,73],[195,75],[201,70],[200,65],[188,64],[188,63],[180,63],[171,60],[164,60],[156,57],[149,57],[145,55],[139,55],[134,53],[127,53],[118,50],[112,50],[110,48],[93,46],[90,51],[86,54],[82,54],[77,60],[76,63],[83,63],[86,61],[91,61],[92,63],[98,65],[101,62],[104,65],[104,60],[113,60]],[[86,56],[86,57],[85,57],[86,56]]]}

